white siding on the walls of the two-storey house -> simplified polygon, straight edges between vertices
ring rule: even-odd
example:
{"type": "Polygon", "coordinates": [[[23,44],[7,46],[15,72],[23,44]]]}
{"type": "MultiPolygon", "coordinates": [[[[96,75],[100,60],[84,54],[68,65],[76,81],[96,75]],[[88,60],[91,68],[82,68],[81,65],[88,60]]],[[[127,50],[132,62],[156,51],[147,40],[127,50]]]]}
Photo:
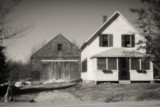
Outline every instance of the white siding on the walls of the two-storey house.
{"type": "MultiPolygon", "coordinates": [[[[88,60],[88,69],[87,72],[81,73],[81,77],[84,81],[118,81],[118,70],[113,70],[111,74],[103,73],[100,70],[97,70],[97,59],[92,58],[93,55],[107,51],[112,48],[125,48],[128,50],[136,50],[139,45],[136,44],[140,40],[145,41],[145,39],[128,23],[128,21],[122,16],[118,16],[106,29],[104,29],[99,35],[97,35],[91,43],[88,43],[87,46],[81,52],[81,60],[87,58],[88,60]],[[101,34],[113,34],[113,47],[99,47],[99,35],[101,34]],[[135,35],[135,47],[126,48],[122,47],[122,35],[123,34],[134,34],[135,35]]],[[[145,46],[145,44],[141,44],[145,46]]],[[[139,50],[142,53],[145,53],[145,50],[139,50]]],[[[139,81],[139,80],[153,80],[153,65],[150,64],[151,69],[147,71],[146,74],[139,74],[136,71],[130,71],[130,80],[139,81]]]]}

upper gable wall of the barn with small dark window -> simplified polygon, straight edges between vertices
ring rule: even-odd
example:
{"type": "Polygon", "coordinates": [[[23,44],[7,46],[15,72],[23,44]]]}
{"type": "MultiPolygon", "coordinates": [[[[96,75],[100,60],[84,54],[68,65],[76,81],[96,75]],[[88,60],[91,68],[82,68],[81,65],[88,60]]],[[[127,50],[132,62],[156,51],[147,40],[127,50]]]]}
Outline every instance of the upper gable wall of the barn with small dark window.
{"type": "Polygon", "coordinates": [[[80,49],[67,40],[63,35],[59,34],[48,42],[44,47],[32,55],[31,58],[59,59],[59,58],[78,58],[80,57],[80,49]],[[58,51],[58,45],[61,50],[58,51]]]}

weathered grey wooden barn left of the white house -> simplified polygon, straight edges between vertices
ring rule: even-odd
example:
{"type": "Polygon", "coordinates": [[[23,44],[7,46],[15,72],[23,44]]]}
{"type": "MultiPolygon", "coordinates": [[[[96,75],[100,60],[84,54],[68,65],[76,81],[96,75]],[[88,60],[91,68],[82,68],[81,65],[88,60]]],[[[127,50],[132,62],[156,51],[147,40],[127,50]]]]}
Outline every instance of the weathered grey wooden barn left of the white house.
{"type": "Polygon", "coordinates": [[[59,34],[31,56],[33,81],[80,79],[80,49],[59,34]]]}

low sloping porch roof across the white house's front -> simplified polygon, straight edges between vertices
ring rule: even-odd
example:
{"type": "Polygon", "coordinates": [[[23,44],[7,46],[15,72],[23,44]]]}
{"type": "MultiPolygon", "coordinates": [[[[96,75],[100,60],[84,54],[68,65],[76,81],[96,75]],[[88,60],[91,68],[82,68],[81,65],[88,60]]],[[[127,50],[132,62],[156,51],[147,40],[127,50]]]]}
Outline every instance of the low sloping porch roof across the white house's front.
{"type": "Polygon", "coordinates": [[[137,50],[131,50],[126,48],[112,48],[107,51],[93,55],[92,58],[100,57],[145,57],[150,56],[148,54],[140,53],[137,50]]]}

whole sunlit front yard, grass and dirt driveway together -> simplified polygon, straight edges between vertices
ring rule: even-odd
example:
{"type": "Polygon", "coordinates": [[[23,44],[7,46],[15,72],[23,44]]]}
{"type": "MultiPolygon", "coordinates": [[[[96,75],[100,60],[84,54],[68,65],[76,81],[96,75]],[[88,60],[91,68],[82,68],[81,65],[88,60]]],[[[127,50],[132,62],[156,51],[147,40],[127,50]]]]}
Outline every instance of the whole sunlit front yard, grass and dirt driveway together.
{"type": "Polygon", "coordinates": [[[160,84],[79,84],[16,95],[15,101],[0,107],[160,107],[160,84]]]}

